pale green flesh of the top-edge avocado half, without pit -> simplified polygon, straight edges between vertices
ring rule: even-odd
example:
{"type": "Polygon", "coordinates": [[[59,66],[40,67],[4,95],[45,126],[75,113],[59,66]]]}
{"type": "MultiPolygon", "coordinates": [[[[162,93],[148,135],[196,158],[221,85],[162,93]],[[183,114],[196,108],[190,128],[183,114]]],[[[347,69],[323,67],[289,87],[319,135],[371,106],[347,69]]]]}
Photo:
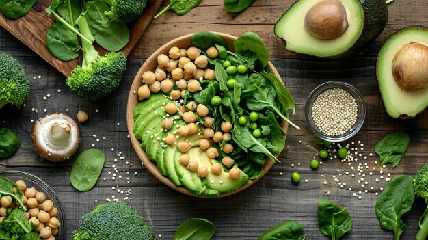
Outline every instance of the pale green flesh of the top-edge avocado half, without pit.
{"type": "Polygon", "coordinates": [[[338,38],[321,40],[310,35],[304,27],[306,12],[322,0],[298,0],[278,20],[275,34],[295,53],[330,57],[345,53],[362,34],[364,10],[358,0],[339,0],[347,11],[348,27],[338,38]]]}

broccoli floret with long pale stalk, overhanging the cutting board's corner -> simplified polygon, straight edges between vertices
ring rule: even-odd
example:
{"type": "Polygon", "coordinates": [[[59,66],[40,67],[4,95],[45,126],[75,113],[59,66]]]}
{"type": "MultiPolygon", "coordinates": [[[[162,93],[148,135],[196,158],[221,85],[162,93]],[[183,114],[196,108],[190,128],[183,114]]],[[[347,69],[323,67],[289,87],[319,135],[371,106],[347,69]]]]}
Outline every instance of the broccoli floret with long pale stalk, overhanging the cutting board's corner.
{"type": "Polygon", "coordinates": [[[101,57],[94,48],[92,35],[86,16],[77,21],[80,34],[91,43],[82,40],[83,62],[66,79],[71,92],[81,98],[96,100],[105,98],[118,88],[126,70],[126,57],[123,53],[107,53],[101,57]]]}

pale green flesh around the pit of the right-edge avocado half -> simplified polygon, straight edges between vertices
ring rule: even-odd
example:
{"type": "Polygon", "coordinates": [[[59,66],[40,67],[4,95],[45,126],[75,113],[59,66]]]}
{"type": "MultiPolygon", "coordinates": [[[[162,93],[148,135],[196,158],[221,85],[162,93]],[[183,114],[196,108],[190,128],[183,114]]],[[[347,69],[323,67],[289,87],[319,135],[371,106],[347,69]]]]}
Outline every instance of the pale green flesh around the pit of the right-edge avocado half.
{"type": "Polygon", "coordinates": [[[392,76],[392,60],[406,44],[428,46],[428,30],[420,27],[403,29],[388,40],[377,57],[376,74],[386,112],[392,118],[412,118],[428,106],[428,88],[407,92],[399,88],[392,76]]]}

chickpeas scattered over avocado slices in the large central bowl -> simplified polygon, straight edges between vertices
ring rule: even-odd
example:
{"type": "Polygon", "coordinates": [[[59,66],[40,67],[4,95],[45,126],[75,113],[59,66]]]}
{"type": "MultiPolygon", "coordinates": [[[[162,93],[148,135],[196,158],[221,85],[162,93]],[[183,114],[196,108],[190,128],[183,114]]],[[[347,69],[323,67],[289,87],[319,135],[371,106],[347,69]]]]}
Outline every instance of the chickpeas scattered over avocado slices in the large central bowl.
{"type": "MultiPolygon", "coordinates": [[[[168,56],[161,54],[157,56],[157,68],[155,72],[147,71],[142,75],[143,85],[138,89],[139,100],[150,98],[150,94],[164,92],[169,94],[170,98],[174,100],[173,103],[165,105],[165,111],[168,114],[176,114],[177,112],[182,116],[183,121],[187,123],[187,126],[180,126],[177,133],[183,137],[199,133],[200,128],[195,124],[198,121],[197,116],[204,120],[204,129],[201,130],[204,139],[200,140],[199,146],[203,150],[206,150],[206,155],[210,159],[215,159],[219,156],[217,148],[211,146],[213,142],[219,143],[223,141],[230,141],[232,139],[230,131],[232,131],[232,123],[222,122],[221,130],[215,132],[211,128],[214,124],[214,118],[209,116],[209,108],[202,105],[196,104],[195,101],[187,103],[185,106],[182,105],[183,98],[185,98],[186,90],[189,92],[198,92],[202,90],[200,80],[213,80],[215,79],[215,70],[208,67],[208,57],[216,58],[219,55],[219,51],[212,46],[207,49],[206,55],[201,55],[201,50],[195,46],[191,46],[188,49],[179,49],[173,46],[168,51],[168,56]],[[174,88],[176,85],[176,88],[174,88]],[[174,90],[173,90],[174,89],[174,90]],[[181,100],[180,100],[181,98],[181,100]]],[[[215,99],[211,99],[211,104],[216,105],[221,103],[221,98],[218,103],[213,103],[215,99]]],[[[165,117],[162,121],[163,129],[171,129],[174,125],[174,119],[165,117]]],[[[187,168],[192,172],[197,172],[198,176],[205,178],[208,176],[209,171],[213,174],[222,173],[222,165],[219,163],[213,163],[211,168],[208,170],[205,166],[200,166],[198,161],[190,161],[190,156],[187,152],[190,150],[190,144],[186,141],[180,141],[176,143],[178,136],[170,134],[165,137],[165,143],[169,145],[177,144],[178,150],[182,153],[179,157],[181,164],[186,165],[187,168]]],[[[233,145],[226,143],[222,146],[222,151],[226,154],[234,150],[233,145]]],[[[230,157],[224,157],[222,163],[227,167],[232,167],[234,160],[230,157]]],[[[241,171],[236,167],[229,170],[230,178],[239,178],[241,171]]]]}

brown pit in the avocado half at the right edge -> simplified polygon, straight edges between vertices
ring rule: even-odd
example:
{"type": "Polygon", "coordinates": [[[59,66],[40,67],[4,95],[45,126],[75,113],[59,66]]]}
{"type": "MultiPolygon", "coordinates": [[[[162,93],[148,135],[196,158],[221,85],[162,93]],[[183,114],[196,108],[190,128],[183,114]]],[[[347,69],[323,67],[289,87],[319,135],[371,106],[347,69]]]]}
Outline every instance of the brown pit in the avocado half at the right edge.
{"type": "Polygon", "coordinates": [[[402,90],[413,92],[428,87],[428,46],[405,44],[392,60],[392,75],[402,90]]]}

